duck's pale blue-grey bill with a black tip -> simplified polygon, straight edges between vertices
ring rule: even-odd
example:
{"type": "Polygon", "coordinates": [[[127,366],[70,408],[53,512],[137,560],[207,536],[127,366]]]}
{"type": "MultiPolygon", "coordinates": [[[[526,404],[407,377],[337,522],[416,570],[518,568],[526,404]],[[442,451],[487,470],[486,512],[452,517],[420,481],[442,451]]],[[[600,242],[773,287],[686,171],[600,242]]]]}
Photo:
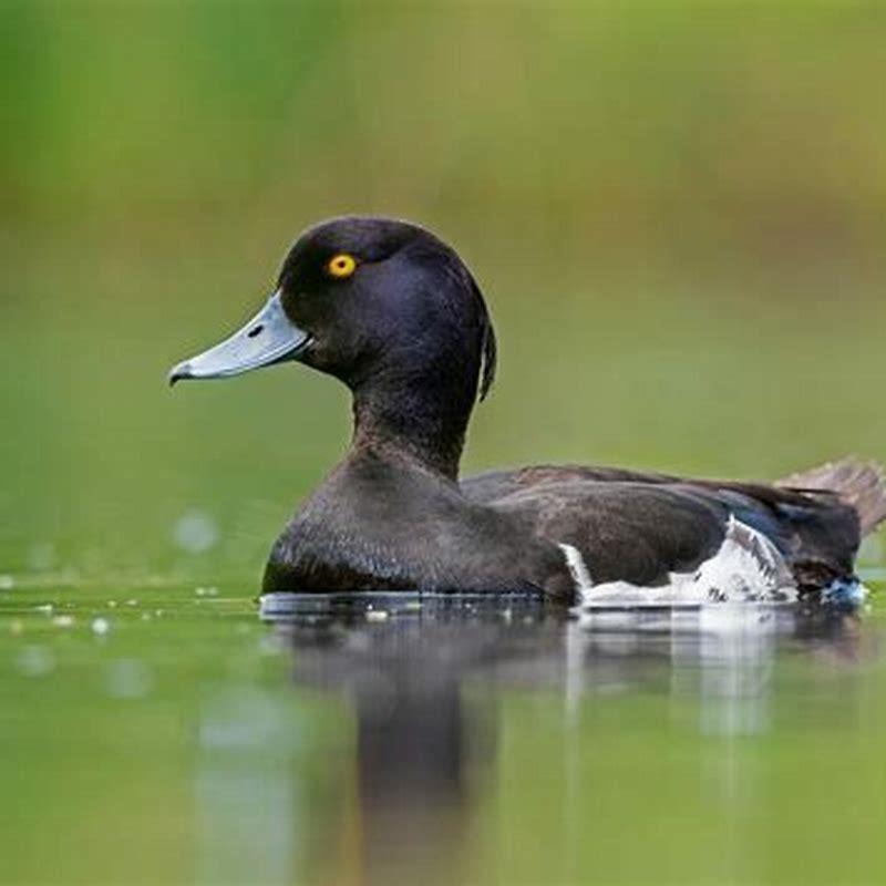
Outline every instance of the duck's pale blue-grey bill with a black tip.
{"type": "Polygon", "coordinates": [[[169,384],[182,379],[226,379],[250,369],[292,360],[309,339],[310,336],[286,316],[277,291],[243,329],[208,351],[174,367],[169,372],[169,384]]]}

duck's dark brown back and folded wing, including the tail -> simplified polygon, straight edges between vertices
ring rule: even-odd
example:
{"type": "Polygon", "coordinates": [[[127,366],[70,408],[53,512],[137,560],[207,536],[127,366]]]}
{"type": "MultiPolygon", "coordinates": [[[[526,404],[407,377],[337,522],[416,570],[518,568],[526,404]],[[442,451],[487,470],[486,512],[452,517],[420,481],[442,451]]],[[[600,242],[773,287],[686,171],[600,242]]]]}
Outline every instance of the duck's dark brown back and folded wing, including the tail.
{"type": "Polygon", "coordinates": [[[852,460],[776,485],[569,465],[483,474],[462,490],[532,514],[538,535],[573,548],[595,585],[664,584],[713,557],[739,525],[774,546],[801,591],[817,590],[852,575],[862,536],[886,516],[879,472],[852,460]]]}

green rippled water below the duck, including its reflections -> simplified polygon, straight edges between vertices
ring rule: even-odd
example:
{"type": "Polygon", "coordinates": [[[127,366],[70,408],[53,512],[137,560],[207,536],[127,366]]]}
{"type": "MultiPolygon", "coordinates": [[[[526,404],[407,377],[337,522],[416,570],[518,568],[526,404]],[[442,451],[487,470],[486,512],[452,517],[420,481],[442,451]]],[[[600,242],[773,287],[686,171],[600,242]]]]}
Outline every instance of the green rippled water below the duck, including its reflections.
{"type": "Polygon", "coordinates": [[[876,607],[291,609],[2,591],[0,880],[886,879],[876,607]]]}

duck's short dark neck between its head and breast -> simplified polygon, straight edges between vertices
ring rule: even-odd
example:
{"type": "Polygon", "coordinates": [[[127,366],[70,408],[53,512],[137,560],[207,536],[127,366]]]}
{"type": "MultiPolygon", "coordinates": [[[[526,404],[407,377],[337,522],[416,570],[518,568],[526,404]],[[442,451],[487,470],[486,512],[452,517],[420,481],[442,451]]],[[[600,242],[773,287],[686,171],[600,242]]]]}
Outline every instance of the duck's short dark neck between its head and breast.
{"type": "Polygon", "coordinates": [[[352,445],[402,455],[454,482],[472,405],[472,393],[429,391],[423,385],[357,388],[352,445]]]}

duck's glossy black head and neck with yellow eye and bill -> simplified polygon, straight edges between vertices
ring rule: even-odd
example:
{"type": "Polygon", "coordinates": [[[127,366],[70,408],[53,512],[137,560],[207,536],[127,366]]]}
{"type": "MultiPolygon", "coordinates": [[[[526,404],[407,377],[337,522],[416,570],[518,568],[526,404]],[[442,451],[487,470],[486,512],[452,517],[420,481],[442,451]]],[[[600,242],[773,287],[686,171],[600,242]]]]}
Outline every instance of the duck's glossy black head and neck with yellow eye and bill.
{"type": "Polygon", "coordinates": [[[474,278],[442,240],[405,222],[346,217],[302,234],[265,308],[169,378],[287,360],[353,391],[358,442],[399,444],[453,473],[477,390],[483,399],[493,381],[495,336],[474,278]]]}

